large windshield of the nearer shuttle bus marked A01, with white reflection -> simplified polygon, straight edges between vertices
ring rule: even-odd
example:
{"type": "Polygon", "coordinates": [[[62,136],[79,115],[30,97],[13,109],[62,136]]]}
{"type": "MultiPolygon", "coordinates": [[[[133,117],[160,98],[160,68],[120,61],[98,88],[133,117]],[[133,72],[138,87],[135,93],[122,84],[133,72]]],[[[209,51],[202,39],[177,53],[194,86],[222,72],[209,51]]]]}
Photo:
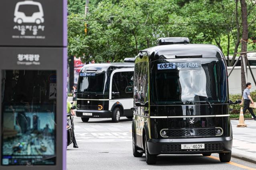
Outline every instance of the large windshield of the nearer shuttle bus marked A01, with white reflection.
{"type": "Polygon", "coordinates": [[[155,105],[227,102],[226,67],[222,59],[157,60],[151,63],[150,77],[151,101],[155,105]]]}

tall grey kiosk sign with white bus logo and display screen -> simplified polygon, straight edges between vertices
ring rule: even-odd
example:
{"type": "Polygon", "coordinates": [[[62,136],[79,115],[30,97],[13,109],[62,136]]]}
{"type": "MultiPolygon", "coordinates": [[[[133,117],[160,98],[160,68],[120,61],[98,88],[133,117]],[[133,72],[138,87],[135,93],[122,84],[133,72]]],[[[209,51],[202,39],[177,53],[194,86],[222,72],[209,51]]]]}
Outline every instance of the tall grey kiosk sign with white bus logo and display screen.
{"type": "Polygon", "coordinates": [[[0,169],[66,169],[67,0],[0,5],[0,169]]]}

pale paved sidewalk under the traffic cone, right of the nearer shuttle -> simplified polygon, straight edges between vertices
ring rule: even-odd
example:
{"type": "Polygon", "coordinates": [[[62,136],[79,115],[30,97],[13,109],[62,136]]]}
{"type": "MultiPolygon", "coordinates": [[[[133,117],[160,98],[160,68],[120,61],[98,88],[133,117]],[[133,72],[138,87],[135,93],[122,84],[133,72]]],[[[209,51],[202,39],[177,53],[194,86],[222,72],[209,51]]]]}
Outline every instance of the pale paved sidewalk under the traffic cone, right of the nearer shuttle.
{"type": "Polygon", "coordinates": [[[233,128],[232,157],[256,164],[256,121],[245,120],[247,127],[236,127],[238,120],[231,120],[233,128]]]}

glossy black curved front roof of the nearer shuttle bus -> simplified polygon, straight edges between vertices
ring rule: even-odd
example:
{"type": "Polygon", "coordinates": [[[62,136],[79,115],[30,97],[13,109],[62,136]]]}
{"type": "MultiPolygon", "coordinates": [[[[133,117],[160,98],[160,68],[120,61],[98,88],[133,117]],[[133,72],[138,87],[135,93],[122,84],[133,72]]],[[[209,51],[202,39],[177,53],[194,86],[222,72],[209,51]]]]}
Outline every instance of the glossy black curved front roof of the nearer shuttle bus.
{"type": "MultiPolygon", "coordinates": [[[[172,44],[159,45],[142,50],[147,52],[149,59],[172,59],[175,55],[202,55],[204,58],[224,58],[224,54],[216,45],[209,44],[172,44]]],[[[137,55],[139,56],[139,55],[137,55]]]]}

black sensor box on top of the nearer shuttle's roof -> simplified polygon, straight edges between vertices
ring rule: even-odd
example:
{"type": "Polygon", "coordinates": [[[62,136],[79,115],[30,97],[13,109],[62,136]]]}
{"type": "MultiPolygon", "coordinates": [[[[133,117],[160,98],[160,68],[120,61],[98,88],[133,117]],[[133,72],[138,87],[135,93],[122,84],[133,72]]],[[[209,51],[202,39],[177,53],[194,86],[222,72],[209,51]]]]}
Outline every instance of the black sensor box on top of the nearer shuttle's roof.
{"type": "Polygon", "coordinates": [[[189,43],[187,37],[166,37],[158,38],[157,45],[167,45],[167,44],[186,44],[189,43]]]}

